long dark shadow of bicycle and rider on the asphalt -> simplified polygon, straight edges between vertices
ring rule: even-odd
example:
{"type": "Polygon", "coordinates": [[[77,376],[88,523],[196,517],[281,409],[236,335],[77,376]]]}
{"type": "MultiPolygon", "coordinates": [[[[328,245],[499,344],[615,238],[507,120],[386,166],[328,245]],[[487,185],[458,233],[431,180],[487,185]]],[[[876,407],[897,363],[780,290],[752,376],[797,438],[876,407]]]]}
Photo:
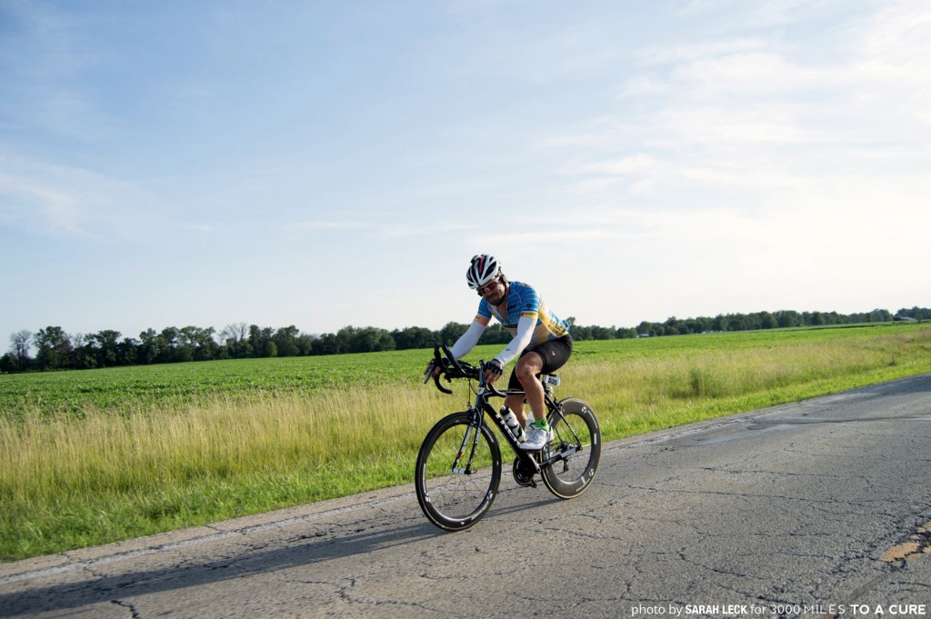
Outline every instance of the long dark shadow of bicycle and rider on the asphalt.
{"type": "MultiPolygon", "coordinates": [[[[506,517],[522,510],[559,501],[555,497],[523,505],[506,505],[486,519],[506,517]]],[[[476,531],[476,530],[470,530],[476,531]]],[[[78,567],[88,573],[79,581],[38,586],[26,591],[0,593],[0,616],[15,617],[35,612],[66,612],[97,603],[111,603],[115,599],[130,599],[146,594],[211,585],[251,574],[274,572],[309,566],[334,559],[364,555],[373,551],[398,549],[444,535],[467,535],[469,532],[440,531],[424,518],[411,518],[410,524],[385,529],[379,523],[370,529],[350,532],[307,532],[291,536],[279,547],[248,552],[237,557],[213,559],[204,562],[169,565],[155,570],[122,572],[114,575],[93,575],[93,567],[78,567]]],[[[159,551],[156,551],[159,552],[159,551]]]]}

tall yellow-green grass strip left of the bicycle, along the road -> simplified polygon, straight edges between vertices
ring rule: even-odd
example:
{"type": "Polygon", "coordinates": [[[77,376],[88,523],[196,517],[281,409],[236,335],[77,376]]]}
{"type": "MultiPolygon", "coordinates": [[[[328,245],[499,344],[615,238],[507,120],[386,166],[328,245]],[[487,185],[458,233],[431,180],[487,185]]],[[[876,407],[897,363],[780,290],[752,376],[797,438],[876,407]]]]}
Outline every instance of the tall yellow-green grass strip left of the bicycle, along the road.
{"type": "Polygon", "coordinates": [[[431,399],[410,386],[247,404],[215,397],[161,414],[88,410],[0,424],[0,556],[404,483],[431,399]]]}

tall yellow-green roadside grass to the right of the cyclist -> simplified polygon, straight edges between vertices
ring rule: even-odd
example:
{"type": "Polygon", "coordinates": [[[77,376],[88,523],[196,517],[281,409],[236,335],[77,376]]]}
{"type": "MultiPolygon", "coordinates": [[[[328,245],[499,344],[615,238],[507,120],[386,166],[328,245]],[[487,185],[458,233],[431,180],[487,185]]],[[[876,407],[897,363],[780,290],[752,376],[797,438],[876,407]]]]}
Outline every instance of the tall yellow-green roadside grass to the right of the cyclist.
{"type": "Polygon", "coordinates": [[[683,350],[570,365],[566,384],[608,439],[815,397],[931,370],[931,329],[833,342],[683,350]]]}

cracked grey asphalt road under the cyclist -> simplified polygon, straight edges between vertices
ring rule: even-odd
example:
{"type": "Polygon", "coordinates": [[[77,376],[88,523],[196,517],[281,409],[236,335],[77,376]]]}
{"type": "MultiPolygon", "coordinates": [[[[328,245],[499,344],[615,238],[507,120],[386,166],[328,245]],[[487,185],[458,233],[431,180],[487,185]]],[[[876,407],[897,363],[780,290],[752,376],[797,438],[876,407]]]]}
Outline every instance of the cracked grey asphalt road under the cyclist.
{"type": "Polygon", "coordinates": [[[931,375],[616,441],[573,501],[412,485],[0,565],[3,617],[931,616],[931,375]]]}

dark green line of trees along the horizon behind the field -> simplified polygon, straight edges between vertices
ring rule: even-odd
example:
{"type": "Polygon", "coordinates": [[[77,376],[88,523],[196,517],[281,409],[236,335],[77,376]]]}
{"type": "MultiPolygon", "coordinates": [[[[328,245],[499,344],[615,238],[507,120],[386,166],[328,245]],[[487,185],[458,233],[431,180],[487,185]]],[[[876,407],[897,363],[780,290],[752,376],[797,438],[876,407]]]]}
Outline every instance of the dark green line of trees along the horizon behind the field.
{"type": "MultiPolygon", "coordinates": [[[[568,321],[573,339],[584,341],[928,319],[931,319],[931,309],[913,307],[900,309],[895,315],[877,309],[849,315],[779,311],[685,319],[672,316],[665,322],[643,321],[636,328],[586,327],[575,324],[573,317],[568,321]]],[[[185,361],[421,349],[438,343],[452,344],[467,328],[468,325],[457,322],[449,322],[439,330],[407,327],[389,331],[350,326],[335,333],[312,335],[293,325],[272,329],[239,322],[227,325],[219,333],[212,327],[168,327],[161,331],[144,330],[138,338],[132,338],[123,337],[117,330],[72,335],[61,327],[46,327],[35,333],[20,330],[11,334],[9,351],[0,357],[0,371],[88,370],[185,361]]],[[[507,343],[510,340],[511,334],[500,324],[494,324],[485,330],[479,343],[507,343]]]]}

